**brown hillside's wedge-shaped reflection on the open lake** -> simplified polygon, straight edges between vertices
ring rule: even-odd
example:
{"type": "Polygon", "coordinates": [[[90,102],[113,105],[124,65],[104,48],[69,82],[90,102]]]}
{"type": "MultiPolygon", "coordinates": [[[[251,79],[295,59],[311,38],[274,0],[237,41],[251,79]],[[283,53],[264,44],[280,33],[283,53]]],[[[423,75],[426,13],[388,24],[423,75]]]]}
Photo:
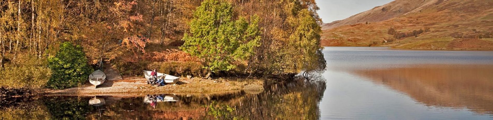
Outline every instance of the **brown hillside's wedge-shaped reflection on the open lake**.
{"type": "Polygon", "coordinates": [[[420,65],[353,73],[403,92],[427,106],[493,114],[493,65],[420,65]]]}

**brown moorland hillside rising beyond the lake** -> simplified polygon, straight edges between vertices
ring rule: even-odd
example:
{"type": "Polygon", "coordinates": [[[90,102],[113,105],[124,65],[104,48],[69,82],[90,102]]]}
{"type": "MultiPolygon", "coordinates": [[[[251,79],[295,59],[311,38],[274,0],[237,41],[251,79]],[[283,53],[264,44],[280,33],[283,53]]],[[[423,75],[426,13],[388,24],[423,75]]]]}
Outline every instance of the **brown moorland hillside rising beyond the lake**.
{"type": "Polygon", "coordinates": [[[323,46],[492,50],[493,0],[395,0],[322,27],[323,46]]]}

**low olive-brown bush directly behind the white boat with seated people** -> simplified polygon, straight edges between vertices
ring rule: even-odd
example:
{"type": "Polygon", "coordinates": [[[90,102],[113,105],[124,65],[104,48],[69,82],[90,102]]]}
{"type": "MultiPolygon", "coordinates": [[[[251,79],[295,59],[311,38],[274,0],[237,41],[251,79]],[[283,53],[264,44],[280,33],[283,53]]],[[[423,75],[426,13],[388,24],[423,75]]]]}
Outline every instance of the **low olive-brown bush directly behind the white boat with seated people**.
{"type": "Polygon", "coordinates": [[[160,73],[174,76],[203,76],[207,70],[198,62],[155,62],[147,66],[148,70],[156,69],[160,73]]]}

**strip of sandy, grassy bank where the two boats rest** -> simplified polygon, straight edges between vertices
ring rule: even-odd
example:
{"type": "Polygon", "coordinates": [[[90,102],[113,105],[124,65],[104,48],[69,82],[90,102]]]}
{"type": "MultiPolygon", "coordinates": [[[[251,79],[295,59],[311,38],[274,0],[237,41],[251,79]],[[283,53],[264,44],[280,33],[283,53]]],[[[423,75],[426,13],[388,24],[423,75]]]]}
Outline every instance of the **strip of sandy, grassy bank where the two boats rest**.
{"type": "MultiPolygon", "coordinates": [[[[180,79],[175,84],[166,84],[165,86],[151,86],[145,79],[131,80],[106,80],[98,88],[86,83],[79,87],[54,90],[42,89],[45,95],[77,95],[77,96],[126,96],[126,95],[145,95],[157,93],[175,93],[175,94],[225,94],[250,90],[251,85],[263,86],[264,80],[256,79],[180,79]],[[245,87],[247,86],[247,87],[245,87]]],[[[257,89],[259,87],[256,87],[257,89]]],[[[263,91],[263,88],[260,87],[263,91]]]]}

